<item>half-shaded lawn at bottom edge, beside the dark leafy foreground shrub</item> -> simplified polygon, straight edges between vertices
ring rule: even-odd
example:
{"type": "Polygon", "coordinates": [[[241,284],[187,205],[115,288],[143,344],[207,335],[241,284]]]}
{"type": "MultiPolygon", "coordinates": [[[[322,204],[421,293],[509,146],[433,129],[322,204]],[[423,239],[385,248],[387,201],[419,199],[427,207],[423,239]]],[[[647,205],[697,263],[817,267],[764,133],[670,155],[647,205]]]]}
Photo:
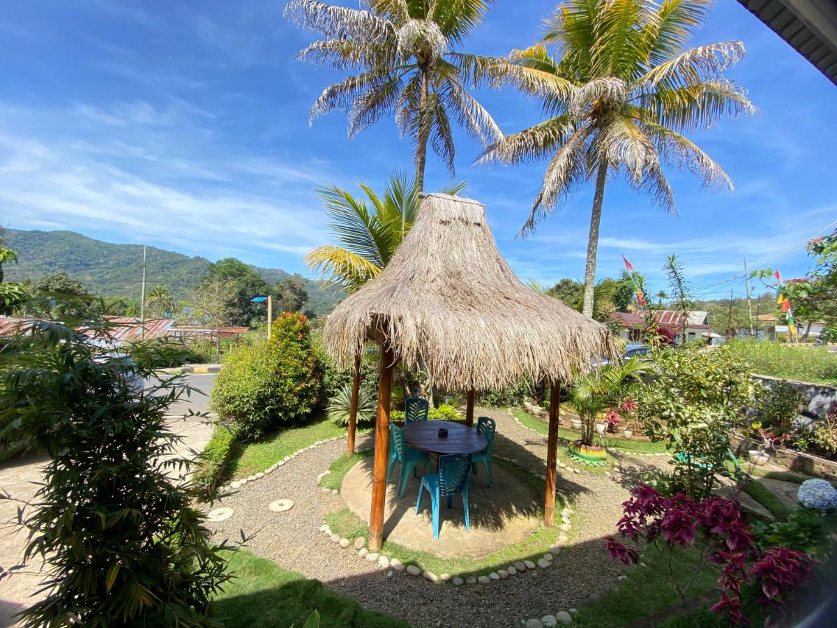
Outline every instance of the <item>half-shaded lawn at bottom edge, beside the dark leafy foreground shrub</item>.
{"type": "Polygon", "coordinates": [[[312,610],[329,628],[409,628],[404,620],[365,610],[317,580],[282,569],[246,550],[227,553],[234,579],[215,598],[215,617],[224,628],[288,628],[305,624],[312,610]]]}

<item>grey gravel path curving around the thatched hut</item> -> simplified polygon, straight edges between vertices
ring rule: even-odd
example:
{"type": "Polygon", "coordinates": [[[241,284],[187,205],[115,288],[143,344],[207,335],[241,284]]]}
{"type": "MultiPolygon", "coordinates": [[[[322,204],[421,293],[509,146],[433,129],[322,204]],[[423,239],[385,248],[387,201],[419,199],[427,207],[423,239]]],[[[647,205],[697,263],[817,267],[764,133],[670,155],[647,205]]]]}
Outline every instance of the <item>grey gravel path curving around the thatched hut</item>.
{"type": "MultiPolygon", "coordinates": [[[[517,424],[505,411],[479,412],[497,421],[495,456],[514,458],[531,471],[545,472],[545,437],[517,424]]],[[[358,449],[371,445],[368,436],[358,441],[358,449]]],[[[388,578],[388,570],[378,570],[359,559],[351,548],[338,548],[319,531],[325,514],[340,509],[343,503],[339,495],[321,491],[317,476],[345,447],[345,440],[336,440],[300,453],[269,476],[224,497],[221,505],[232,507],[234,515],[208,525],[218,538],[235,540],[239,530],[257,533],[249,549],[259,556],[319,579],[367,608],[403,617],[415,626],[520,625],[521,619],[554,615],[608,589],[624,567],[609,559],[602,537],[614,533],[620,505],[629,497],[627,486],[662,460],[620,457],[623,471],[614,478],[559,472],[558,491],[574,501],[578,522],[552,567],[485,586],[454,587],[432,585],[398,572],[388,578]],[[268,504],[282,498],[294,500],[295,506],[287,512],[270,512],[268,504]]],[[[496,569],[505,566],[498,564],[496,569]]]]}

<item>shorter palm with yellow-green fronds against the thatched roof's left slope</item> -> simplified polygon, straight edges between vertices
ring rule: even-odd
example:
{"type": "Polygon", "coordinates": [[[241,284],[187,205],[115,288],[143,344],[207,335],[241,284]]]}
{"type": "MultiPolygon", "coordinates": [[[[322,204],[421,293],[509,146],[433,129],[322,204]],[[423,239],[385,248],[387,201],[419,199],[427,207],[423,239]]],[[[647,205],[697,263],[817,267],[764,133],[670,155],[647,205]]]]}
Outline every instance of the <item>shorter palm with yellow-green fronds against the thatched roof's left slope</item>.
{"type": "MultiPolygon", "coordinates": [[[[419,212],[418,187],[406,173],[390,176],[383,197],[366,183],[358,187],[366,199],[335,185],[318,188],[337,244],[318,246],[305,258],[311,270],[349,293],[388,265],[419,212]]],[[[442,191],[459,194],[464,189],[465,183],[454,183],[442,191]]]]}

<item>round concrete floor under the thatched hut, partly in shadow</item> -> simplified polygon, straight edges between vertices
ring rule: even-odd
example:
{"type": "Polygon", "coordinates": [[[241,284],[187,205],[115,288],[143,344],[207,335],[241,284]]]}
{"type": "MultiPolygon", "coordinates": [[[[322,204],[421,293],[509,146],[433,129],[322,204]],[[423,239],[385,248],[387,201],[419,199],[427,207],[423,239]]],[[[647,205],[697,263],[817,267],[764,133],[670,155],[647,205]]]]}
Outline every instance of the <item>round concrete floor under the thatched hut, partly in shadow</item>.
{"type": "MultiPolygon", "coordinates": [[[[341,496],[352,512],[368,521],[372,503],[372,458],[359,461],[347,473],[341,496]]],[[[485,467],[470,476],[470,532],[465,530],[462,497],[454,495],[453,507],[443,501],[439,511],[439,539],[433,538],[430,496],[424,491],[417,514],[421,479],[410,477],[401,499],[397,498],[398,466],[387,486],[384,537],[405,548],[430,551],[444,558],[477,559],[526,538],[537,527],[543,496],[530,482],[506,466],[494,465],[494,481],[488,486],[485,467]]]]}

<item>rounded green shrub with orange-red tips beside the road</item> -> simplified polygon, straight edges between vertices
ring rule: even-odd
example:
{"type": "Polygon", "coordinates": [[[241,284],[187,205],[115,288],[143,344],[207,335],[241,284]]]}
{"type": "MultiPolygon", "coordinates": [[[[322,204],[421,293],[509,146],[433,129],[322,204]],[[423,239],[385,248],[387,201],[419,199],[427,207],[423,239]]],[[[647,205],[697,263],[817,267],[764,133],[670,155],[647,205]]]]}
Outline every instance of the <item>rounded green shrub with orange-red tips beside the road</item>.
{"type": "Polygon", "coordinates": [[[306,419],[320,392],[307,319],[286,312],[273,323],[270,341],[235,347],[223,359],[210,401],[220,420],[252,439],[269,427],[306,419]]]}

